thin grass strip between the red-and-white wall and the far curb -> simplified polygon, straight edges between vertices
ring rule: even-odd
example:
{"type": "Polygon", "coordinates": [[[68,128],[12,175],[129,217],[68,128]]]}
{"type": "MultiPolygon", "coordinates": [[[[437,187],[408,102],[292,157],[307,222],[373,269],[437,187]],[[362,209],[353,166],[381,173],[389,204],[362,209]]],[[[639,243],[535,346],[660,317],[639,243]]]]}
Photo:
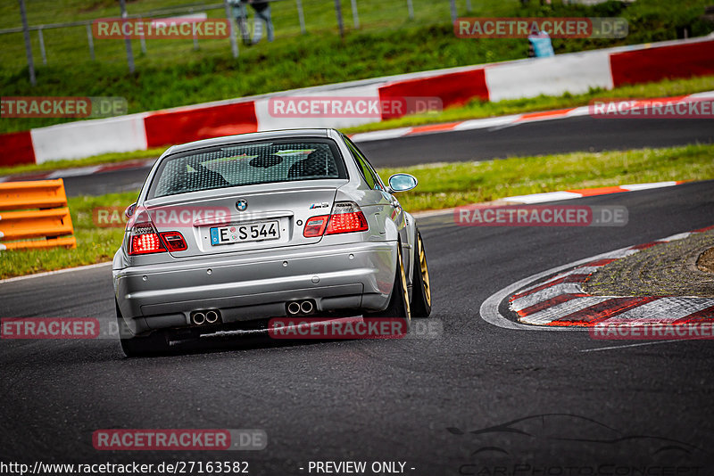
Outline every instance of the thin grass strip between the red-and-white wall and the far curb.
{"type": "MultiPolygon", "coordinates": [[[[355,134],[372,130],[382,130],[394,127],[419,126],[436,124],[465,119],[478,119],[504,114],[516,114],[531,111],[548,111],[558,108],[575,107],[589,103],[594,99],[608,98],[656,98],[699,93],[714,90],[714,76],[688,79],[667,79],[656,83],[635,86],[621,86],[611,91],[593,90],[587,94],[564,94],[562,96],[539,96],[532,99],[518,99],[499,101],[497,103],[484,103],[471,101],[470,103],[446,109],[445,111],[426,117],[405,117],[391,119],[359,127],[342,129],[346,134],[355,134]]],[[[41,164],[27,164],[13,167],[0,167],[0,176],[15,175],[61,168],[84,167],[89,165],[121,162],[125,160],[156,158],[165,151],[164,147],[136,152],[112,152],[95,155],[81,160],[54,160],[41,164]]]]}

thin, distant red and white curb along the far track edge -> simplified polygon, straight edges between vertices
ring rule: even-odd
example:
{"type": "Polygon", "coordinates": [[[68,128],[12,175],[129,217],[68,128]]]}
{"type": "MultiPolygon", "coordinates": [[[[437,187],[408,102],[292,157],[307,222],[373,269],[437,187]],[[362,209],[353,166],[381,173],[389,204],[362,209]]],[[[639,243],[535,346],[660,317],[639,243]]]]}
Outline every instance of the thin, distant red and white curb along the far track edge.
{"type": "MultiPolygon", "coordinates": [[[[693,99],[702,99],[714,97],[714,91],[707,91],[704,93],[689,94],[685,96],[677,97],[663,97],[657,99],[648,99],[647,103],[661,102],[661,103],[671,103],[671,102],[686,102],[693,99]]],[[[613,104],[621,106],[624,109],[632,109],[637,107],[640,102],[633,103],[632,100],[622,100],[614,101],[613,104]]],[[[350,137],[354,142],[369,142],[369,141],[381,141],[385,139],[395,139],[398,137],[407,137],[411,135],[426,135],[426,134],[440,134],[444,132],[455,132],[462,130],[474,130],[474,129],[490,129],[490,128],[502,128],[509,126],[518,126],[520,124],[527,124],[529,122],[541,122],[544,120],[555,120],[555,119],[568,119],[580,116],[588,116],[591,114],[591,106],[579,106],[575,108],[559,109],[555,111],[539,111],[539,112],[527,112],[524,114],[511,114],[509,116],[499,116],[495,118],[486,119],[469,119],[461,120],[456,122],[447,122],[444,124],[428,124],[426,126],[415,126],[415,127],[399,127],[396,129],[378,130],[372,132],[362,132],[351,135],[350,137]]]]}

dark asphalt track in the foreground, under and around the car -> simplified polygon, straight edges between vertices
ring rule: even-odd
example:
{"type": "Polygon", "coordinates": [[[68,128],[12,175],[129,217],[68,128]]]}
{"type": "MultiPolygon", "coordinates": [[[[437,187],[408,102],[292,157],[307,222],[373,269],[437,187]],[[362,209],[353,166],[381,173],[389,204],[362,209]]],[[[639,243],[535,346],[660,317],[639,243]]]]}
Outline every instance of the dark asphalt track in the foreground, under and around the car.
{"type": "MultiPolygon", "coordinates": [[[[568,203],[624,205],[629,223],[419,219],[431,319],[444,325],[436,338],[225,339],[144,359],[123,357],[117,341],[0,341],[0,459],[244,460],[251,474],[271,475],[315,474],[307,464],[326,460],[402,461],[419,475],[714,474],[712,341],[628,347],[587,332],[503,329],[478,315],[490,295],[529,275],[714,224],[714,182],[568,203]],[[269,443],[254,452],[96,451],[92,432],[111,428],[263,429],[269,443]]],[[[0,316],[112,315],[109,267],[0,283],[0,316]]]]}

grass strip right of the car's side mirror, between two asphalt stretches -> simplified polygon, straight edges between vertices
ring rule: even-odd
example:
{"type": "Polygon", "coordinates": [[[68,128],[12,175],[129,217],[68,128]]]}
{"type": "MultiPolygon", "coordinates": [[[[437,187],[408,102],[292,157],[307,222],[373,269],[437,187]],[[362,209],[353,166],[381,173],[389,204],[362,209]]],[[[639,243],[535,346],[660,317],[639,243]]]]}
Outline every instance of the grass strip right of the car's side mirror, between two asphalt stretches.
{"type": "Polygon", "coordinates": [[[573,152],[483,162],[383,168],[386,178],[406,172],[419,179],[399,201],[410,211],[446,209],[513,195],[668,180],[714,178],[714,145],[613,152],[573,152]]]}

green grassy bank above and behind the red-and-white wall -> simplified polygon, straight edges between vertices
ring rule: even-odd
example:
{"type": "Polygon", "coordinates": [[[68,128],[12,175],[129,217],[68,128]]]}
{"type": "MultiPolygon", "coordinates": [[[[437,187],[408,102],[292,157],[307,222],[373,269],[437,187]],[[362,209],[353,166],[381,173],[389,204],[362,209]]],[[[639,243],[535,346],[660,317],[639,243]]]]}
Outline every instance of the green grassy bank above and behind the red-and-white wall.
{"type": "MultiPolygon", "coordinates": [[[[137,0],[129,12],[152,12],[176,6],[183,0],[137,0]]],[[[207,0],[206,0],[207,1],[207,0]]],[[[295,4],[274,4],[277,39],[241,47],[240,57],[230,56],[228,40],[200,40],[194,51],[190,40],[147,40],[147,52],[137,53],[137,71],[129,74],[121,40],[95,40],[96,61],[88,58],[86,32],[82,28],[45,32],[48,64],[39,60],[37,33],[32,45],[37,63],[37,86],[30,86],[21,34],[0,35],[2,94],[122,96],[129,112],[154,111],[190,103],[203,103],[250,94],[282,91],[361,78],[433,70],[524,58],[523,39],[460,39],[452,32],[446,0],[413,0],[416,18],[406,17],[406,1],[357,0],[361,29],[348,28],[345,38],[336,34],[334,3],[304,0],[308,34],[297,28],[295,4]]],[[[466,0],[458,0],[460,15],[479,16],[622,16],[630,23],[624,39],[554,39],[556,53],[633,45],[706,35],[712,25],[702,20],[710,0],[638,0],[632,4],[608,2],[586,7],[552,5],[519,0],[479,0],[474,12],[466,12],[466,0]]],[[[19,24],[16,2],[0,4],[0,27],[19,24]]],[[[87,20],[116,16],[111,0],[60,0],[51,5],[29,2],[29,23],[87,20]]],[[[345,24],[352,25],[350,3],[343,1],[345,24]]],[[[212,11],[211,16],[222,16],[212,11]]],[[[0,132],[42,127],[67,119],[0,119],[0,132]]]]}

